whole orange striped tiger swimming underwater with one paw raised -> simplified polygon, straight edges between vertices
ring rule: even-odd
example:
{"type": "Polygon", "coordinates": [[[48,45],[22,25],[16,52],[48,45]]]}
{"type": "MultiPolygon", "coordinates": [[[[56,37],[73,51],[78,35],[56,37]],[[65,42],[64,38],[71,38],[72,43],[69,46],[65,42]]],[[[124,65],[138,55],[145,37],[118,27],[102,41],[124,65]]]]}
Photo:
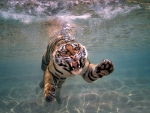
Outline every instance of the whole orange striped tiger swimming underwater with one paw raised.
{"type": "Polygon", "coordinates": [[[92,64],[86,47],[75,41],[70,24],[63,24],[59,30],[50,39],[42,56],[41,68],[44,76],[40,86],[44,87],[44,96],[48,102],[56,98],[61,103],[61,87],[67,77],[81,75],[85,81],[91,83],[112,73],[114,64],[108,59],[97,65],[92,64]]]}

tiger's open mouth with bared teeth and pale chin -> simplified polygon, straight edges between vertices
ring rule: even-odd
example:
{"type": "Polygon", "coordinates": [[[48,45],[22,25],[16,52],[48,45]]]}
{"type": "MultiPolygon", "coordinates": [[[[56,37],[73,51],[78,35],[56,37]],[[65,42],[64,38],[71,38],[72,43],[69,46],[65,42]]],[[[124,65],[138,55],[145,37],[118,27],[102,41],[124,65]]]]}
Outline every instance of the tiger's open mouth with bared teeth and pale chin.
{"type": "Polygon", "coordinates": [[[75,75],[80,74],[82,69],[80,68],[79,60],[70,62],[70,66],[71,66],[71,72],[73,74],[75,74],[75,75]]]}

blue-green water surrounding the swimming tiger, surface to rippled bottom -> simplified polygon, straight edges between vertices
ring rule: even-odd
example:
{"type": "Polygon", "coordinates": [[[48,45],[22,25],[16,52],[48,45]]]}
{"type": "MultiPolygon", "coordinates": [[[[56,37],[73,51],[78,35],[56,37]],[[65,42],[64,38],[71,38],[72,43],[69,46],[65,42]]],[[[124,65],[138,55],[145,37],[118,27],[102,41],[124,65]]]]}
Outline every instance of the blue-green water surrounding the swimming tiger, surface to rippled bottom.
{"type": "Polygon", "coordinates": [[[149,113],[149,49],[149,0],[1,0],[0,113],[149,113]],[[54,16],[77,26],[91,62],[115,65],[93,83],[68,78],[61,105],[46,102],[39,87],[54,16]]]}

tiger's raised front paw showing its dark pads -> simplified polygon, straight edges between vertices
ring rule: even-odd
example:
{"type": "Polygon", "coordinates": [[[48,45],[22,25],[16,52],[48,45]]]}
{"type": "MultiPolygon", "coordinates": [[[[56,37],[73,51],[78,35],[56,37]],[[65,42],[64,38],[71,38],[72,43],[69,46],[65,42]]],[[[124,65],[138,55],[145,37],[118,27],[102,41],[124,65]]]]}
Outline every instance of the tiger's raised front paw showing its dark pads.
{"type": "Polygon", "coordinates": [[[108,59],[103,60],[96,66],[95,71],[100,78],[107,76],[114,71],[114,64],[108,59]]]}

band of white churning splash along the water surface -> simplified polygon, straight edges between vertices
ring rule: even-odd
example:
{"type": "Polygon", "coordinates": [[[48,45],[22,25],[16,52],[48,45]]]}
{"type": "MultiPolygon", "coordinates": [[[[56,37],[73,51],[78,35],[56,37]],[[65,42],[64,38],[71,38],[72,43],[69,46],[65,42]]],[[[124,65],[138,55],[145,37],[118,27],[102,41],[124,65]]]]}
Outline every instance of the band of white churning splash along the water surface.
{"type": "Polygon", "coordinates": [[[45,20],[51,16],[73,20],[95,16],[100,19],[113,19],[140,8],[139,5],[128,5],[121,0],[8,0],[0,5],[1,17],[19,20],[25,24],[45,20]]]}

